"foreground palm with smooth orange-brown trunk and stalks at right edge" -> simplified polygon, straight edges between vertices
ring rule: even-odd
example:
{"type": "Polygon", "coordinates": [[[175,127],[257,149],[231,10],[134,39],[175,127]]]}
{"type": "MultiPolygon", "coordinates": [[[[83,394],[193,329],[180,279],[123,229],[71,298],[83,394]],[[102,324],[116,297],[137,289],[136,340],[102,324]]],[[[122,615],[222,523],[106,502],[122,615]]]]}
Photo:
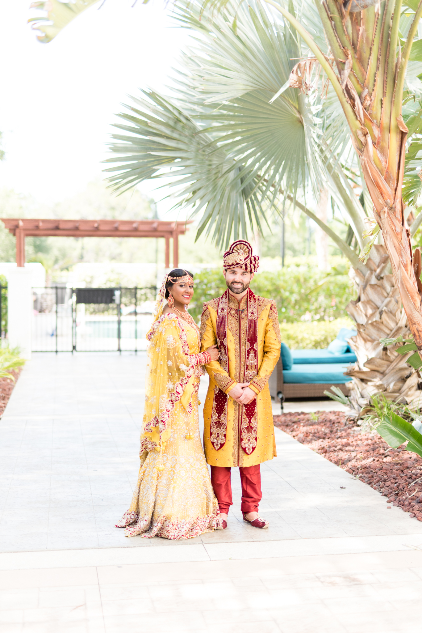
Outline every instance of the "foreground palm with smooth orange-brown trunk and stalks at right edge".
{"type": "MultiPolygon", "coordinates": [[[[290,23],[309,47],[330,80],[351,130],[375,220],[382,230],[394,279],[414,342],[422,350],[421,253],[412,253],[402,199],[406,141],[409,128],[402,116],[406,68],[411,51],[421,54],[414,41],[422,16],[422,0],[316,0],[326,43],[309,34],[314,18],[302,13],[300,21],[273,0],[266,3],[290,23]],[[323,53],[323,51],[326,53],[323,53]]],[[[220,4],[225,4],[224,1],[220,4]]],[[[290,3],[289,6],[293,5],[290,3]]],[[[308,6],[303,3],[302,6],[308,6]]],[[[299,66],[301,77],[306,66],[299,66]]],[[[297,85],[292,73],[290,85],[297,85]]],[[[303,80],[301,81],[304,86],[303,80]]],[[[306,89],[306,88],[305,88],[306,89]]],[[[421,360],[422,365],[422,360],[421,360]]]]}

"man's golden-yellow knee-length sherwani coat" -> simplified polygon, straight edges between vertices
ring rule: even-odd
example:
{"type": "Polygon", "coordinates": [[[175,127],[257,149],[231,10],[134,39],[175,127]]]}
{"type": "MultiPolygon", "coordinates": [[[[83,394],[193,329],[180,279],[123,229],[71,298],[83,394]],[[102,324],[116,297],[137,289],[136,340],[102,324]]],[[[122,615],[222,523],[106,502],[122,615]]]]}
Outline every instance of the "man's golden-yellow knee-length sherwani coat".
{"type": "MultiPolygon", "coordinates": [[[[258,308],[258,375],[251,380],[251,389],[257,395],[258,441],[254,451],[248,455],[239,443],[239,405],[228,398],[226,441],[216,451],[210,441],[211,413],[213,410],[214,387],[228,393],[238,382],[244,380],[247,299],[237,301],[229,293],[227,315],[228,373],[218,361],[206,365],[209,387],[204,406],[204,450],[211,466],[255,466],[272,460],[276,455],[274,440],[273,412],[268,379],[280,356],[280,327],[275,303],[264,297],[256,297],[258,308]]],[[[216,320],[218,299],[204,303],[201,317],[201,351],[216,344],[216,320]]]]}

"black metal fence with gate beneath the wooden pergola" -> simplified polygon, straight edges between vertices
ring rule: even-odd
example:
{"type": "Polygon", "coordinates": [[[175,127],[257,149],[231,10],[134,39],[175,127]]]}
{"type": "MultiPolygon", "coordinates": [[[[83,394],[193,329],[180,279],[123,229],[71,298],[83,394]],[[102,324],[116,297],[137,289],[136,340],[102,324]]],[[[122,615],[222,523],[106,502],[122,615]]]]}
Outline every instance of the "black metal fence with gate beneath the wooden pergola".
{"type": "Polygon", "coordinates": [[[156,287],[34,288],[32,351],[146,349],[156,287]]]}

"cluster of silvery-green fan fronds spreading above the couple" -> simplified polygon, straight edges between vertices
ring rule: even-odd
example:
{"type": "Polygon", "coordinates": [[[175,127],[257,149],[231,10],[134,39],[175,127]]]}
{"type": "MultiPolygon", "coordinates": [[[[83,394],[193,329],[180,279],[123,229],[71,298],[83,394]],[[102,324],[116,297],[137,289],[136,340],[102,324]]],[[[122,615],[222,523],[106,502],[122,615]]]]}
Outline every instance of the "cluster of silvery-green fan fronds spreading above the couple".
{"type": "Polygon", "coordinates": [[[246,237],[247,225],[261,227],[282,184],[296,197],[309,182],[322,185],[325,167],[305,97],[289,89],[269,103],[301,54],[290,31],[253,2],[239,9],[236,31],[222,16],[199,18],[199,5],[178,11],[198,37],[177,92],[133,98],[119,115],[131,125],[117,125],[127,134],[113,135],[108,163],[116,165],[106,171],[121,191],[170,177],[178,206],[202,213],[199,234],[206,229],[223,246],[232,232],[246,237]]]}

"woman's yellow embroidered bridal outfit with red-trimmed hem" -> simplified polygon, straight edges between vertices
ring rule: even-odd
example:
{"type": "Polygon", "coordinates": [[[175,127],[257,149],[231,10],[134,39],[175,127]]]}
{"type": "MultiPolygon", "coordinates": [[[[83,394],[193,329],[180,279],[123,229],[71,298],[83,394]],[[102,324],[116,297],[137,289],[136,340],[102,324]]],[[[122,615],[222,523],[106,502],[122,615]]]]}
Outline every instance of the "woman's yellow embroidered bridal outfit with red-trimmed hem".
{"type": "MultiPolygon", "coordinates": [[[[190,373],[193,365],[189,361],[194,361],[195,355],[199,353],[199,343],[196,331],[187,323],[182,325],[180,320],[172,316],[165,315],[156,323],[158,325],[152,337],[156,354],[156,381],[152,381],[151,386],[151,381],[147,380],[146,416],[148,419],[152,415],[161,416],[162,419],[161,411],[167,411],[165,436],[163,432],[159,439],[158,432],[152,428],[151,442],[156,446],[161,441],[161,452],[147,449],[140,454],[139,477],[132,504],[117,527],[126,527],[126,536],[141,534],[146,538],[161,536],[182,540],[211,532],[216,527],[218,517],[218,504],[199,436],[200,377],[193,373],[182,393],[171,401],[173,406],[166,409],[171,399],[171,392],[168,398],[168,390],[171,390],[171,385],[175,389],[175,385],[182,383],[183,375],[190,373]],[[156,352],[157,348],[160,349],[159,353],[156,352]],[[168,364],[170,360],[171,365],[168,364]],[[185,369],[182,369],[182,365],[185,369]],[[157,382],[163,391],[161,394],[156,391],[157,382]],[[156,410],[152,413],[154,406],[156,410]],[[193,435],[193,439],[188,439],[187,435],[193,435]]],[[[151,349],[149,353],[152,353],[151,349]]],[[[201,367],[194,369],[202,370],[201,367]]],[[[142,432],[142,441],[146,434],[142,432]]]]}

